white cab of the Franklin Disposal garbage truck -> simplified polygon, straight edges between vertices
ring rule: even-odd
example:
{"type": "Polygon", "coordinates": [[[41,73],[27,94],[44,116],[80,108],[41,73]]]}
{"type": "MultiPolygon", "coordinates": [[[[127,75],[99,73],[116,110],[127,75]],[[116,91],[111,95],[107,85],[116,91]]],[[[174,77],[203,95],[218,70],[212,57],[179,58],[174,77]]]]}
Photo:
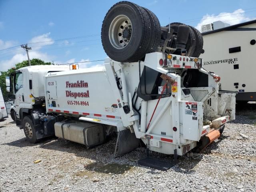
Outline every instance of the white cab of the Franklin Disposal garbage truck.
{"type": "MultiPolygon", "coordinates": [[[[46,74],[49,76],[55,72],[69,70],[68,66],[51,66],[38,65],[27,66],[16,70],[12,73],[12,81],[6,84],[7,90],[13,90],[15,111],[16,111],[16,125],[21,129],[24,116],[32,114],[35,111],[40,113],[44,111],[45,107],[45,92],[44,80],[46,74]],[[10,89],[10,82],[12,82],[12,89],[10,89]],[[32,112],[34,111],[34,112],[32,112]]],[[[37,119],[32,115],[32,120],[37,119]]]]}

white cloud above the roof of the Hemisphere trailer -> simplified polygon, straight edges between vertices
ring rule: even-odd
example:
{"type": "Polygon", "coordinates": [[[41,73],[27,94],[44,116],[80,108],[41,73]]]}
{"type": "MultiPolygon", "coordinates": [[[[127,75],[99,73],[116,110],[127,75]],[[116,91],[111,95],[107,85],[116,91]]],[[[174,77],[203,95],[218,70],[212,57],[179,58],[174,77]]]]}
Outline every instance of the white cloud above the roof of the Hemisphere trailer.
{"type": "Polygon", "coordinates": [[[235,10],[234,12],[228,13],[228,12],[222,12],[218,15],[212,14],[206,14],[203,16],[201,21],[195,26],[198,30],[201,30],[202,25],[210,24],[215,21],[222,21],[225,23],[228,23],[230,25],[242,23],[252,20],[249,17],[246,17],[244,14],[244,10],[238,9],[235,10]]]}

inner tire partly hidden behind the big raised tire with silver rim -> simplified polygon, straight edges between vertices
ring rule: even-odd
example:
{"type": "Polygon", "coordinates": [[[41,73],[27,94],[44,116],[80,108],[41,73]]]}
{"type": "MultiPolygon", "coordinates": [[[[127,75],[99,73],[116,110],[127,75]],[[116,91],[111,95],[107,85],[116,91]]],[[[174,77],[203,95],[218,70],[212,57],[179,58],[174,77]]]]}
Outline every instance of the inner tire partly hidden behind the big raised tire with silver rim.
{"type": "Polygon", "coordinates": [[[158,48],[160,44],[161,39],[161,28],[160,28],[160,22],[157,18],[157,16],[147,8],[142,7],[148,14],[148,17],[150,19],[150,39],[148,40],[149,46],[147,53],[156,52],[156,49],[158,48]]]}

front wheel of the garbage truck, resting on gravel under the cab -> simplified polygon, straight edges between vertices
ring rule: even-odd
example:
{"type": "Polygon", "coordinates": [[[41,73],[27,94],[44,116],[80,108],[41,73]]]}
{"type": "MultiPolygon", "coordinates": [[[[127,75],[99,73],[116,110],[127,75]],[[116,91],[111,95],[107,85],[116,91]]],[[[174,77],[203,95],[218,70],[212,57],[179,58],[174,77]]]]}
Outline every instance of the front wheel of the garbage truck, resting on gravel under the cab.
{"type": "Polygon", "coordinates": [[[38,142],[38,140],[36,139],[36,130],[30,116],[25,116],[23,118],[22,127],[24,130],[24,134],[30,143],[38,142]]]}

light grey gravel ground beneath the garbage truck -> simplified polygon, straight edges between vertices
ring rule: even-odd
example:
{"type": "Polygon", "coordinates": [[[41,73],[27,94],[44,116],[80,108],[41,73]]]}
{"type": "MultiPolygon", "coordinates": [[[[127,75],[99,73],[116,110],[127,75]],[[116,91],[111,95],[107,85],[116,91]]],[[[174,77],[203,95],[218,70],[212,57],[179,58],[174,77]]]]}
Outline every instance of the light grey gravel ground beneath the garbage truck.
{"type": "Polygon", "coordinates": [[[30,144],[8,118],[0,122],[0,192],[256,191],[255,122],[236,116],[218,142],[163,172],[137,164],[143,148],[113,158],[116,138],[92,149],[56,138],[30,144]]]}

